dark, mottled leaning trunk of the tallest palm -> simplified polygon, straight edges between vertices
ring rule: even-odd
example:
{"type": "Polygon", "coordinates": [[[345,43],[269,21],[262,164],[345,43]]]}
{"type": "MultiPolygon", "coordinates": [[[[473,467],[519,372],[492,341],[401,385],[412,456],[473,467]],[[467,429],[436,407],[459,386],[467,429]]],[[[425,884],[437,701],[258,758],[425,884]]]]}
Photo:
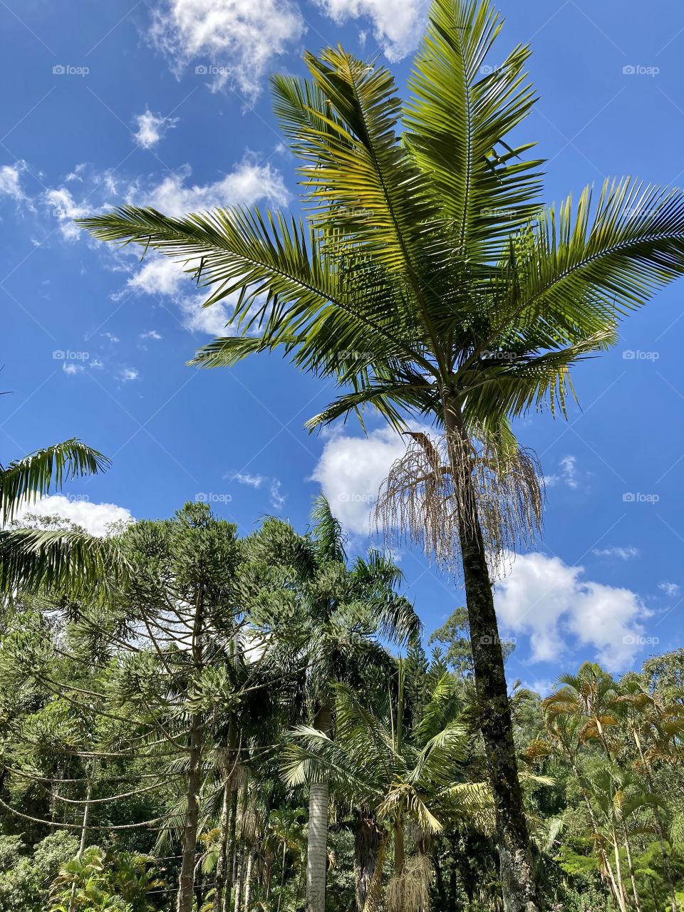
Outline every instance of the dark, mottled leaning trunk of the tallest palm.
{"type": "Polygon", "coordinates": [[[472,665],[487,772],[492,787],[504,912],[535,912],[542,907],[534,874],[523,792],[513,742],[513,720],[494,610],[492,581],[469,468],[470,440],[457,403],[444,399],[451,478],[461,492],[461,558],[472,665]]]}

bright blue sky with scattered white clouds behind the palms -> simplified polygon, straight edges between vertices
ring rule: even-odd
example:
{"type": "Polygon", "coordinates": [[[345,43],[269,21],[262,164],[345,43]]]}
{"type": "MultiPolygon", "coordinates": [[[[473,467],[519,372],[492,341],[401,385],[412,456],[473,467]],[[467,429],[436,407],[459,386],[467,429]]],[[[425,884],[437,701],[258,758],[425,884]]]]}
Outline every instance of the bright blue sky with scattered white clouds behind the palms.
{"type": "MultiPolygon", "coordinates": [[[[546,199],[632,174],[681,184],[684,8],[602,0],[503,2],[501,56],[530,41],[541,100],[525,125],[548,160],[546,199]],[[631,12],[630,12],[631,10],[631,12]]],[[[300,529],[322,485],[366,544],[368,497],[400,444],[379,423],[303,428],[332,389],[279,358],[233,371],[184,362],[229,308],[200,311],[170,264],[113,252],[75,216],[119,202],[165,212],[258,202],[296,211],[295,162],[267,78],[305,48],[378,54],[403,89],[419,0],[8,0],[0,4],[0,461],[78,436],[113,460],[59,510],[101,531],[203,496],[254,528],[300,529]]],[[[492,59],[492,66],[499,61],[492,59]]],[[[679,648],[684,571],[684,285],[624,325],[575,374],[570,420],[518,428],[548,480],[544,540],[498,587],[511,679],[544,689],[584,658],[613,670],[679,648]]],[[[420,554],[399,554],[426,628],[462,594],[420,554]]]]}

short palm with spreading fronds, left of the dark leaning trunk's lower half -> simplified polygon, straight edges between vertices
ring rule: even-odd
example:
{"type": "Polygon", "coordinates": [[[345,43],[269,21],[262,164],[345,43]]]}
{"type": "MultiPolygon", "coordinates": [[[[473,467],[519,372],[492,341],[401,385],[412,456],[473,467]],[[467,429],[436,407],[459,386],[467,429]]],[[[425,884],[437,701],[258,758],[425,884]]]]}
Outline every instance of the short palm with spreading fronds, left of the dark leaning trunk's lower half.
{"type": "Polygon", "coordinates": [[[395,872],[389,907],[402,912],[409,879],[424,887],[427,873],[426,865],[407,861],[409,821],[426,834],[438,834],[447,815],[480,824],[490,815],[489,790],[467,782],[463,772],[470,732],[460,718],[457,690],[453,676],[444,675],[420,718],[407,727],[400,663],[395,696],[371,690],[363,699],[346,685],[337,685],[334,739],[308,726],[292,732],[285,751],[285,782],[297,786],[325,776],[361,809],[355,858],[359,912],[380,896],[388,831],[395,872]],[[411,867],[422,878],[409,878],[411,867]]]}

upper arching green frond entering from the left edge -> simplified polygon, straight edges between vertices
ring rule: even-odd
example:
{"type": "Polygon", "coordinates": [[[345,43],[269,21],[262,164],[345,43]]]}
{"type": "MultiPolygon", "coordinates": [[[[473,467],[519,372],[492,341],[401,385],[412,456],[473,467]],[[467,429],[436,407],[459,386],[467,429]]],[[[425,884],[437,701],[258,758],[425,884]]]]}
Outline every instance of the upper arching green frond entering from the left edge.
{"type": "Polygon", "coordinates": [[[58,490],[64,482],[109,468],[109,459],[76,438],[36,450],[0,468],[0,519],[9,523],[26,501],[58,490]]]}

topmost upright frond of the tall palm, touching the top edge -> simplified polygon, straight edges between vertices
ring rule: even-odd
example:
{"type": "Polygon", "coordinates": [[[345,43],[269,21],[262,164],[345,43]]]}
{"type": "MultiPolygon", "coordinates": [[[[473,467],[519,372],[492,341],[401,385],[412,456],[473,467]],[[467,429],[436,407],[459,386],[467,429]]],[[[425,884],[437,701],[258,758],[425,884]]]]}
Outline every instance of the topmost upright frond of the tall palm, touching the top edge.
{"type": "Polygon", "coordinates": [[[534,216],[541,189],[542,162],[523,158],[533,144],[504,141],[535,98],[523,73],[528,47],[491,56],[502,26],[489,3],[435,0],[409,81],[409,149],[453,244],[481,264],[534,216]]]}

